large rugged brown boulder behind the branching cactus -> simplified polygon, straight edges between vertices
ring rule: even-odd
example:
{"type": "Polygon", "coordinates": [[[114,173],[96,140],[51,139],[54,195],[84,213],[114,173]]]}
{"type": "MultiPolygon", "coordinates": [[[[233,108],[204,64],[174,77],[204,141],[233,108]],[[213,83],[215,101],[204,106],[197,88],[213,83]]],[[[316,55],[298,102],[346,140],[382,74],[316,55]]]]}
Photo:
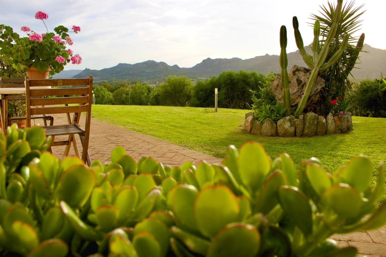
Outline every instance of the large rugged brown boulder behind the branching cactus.
{"type": "MultiPolygon", "coordinates": [[[[296,106],[300,103],[301,96],[303,96],[310,74],[310,69],[296,65],[292,66],[292,68],[289,70],[289,92],[291,93],[292,106],[296,106]]],[[[324,79],[318,76],[315,79],[310,96],[308,97],[305,112],[320,113],[322,103],[322,92],[320,91],[324,86],[324,79]]],[[[279,76],[276,76],[275,80],[271,84],[271,91],[274,93],[276,101],[283,103],[283,85],[281,84],[281,78],[279,76]]]]}

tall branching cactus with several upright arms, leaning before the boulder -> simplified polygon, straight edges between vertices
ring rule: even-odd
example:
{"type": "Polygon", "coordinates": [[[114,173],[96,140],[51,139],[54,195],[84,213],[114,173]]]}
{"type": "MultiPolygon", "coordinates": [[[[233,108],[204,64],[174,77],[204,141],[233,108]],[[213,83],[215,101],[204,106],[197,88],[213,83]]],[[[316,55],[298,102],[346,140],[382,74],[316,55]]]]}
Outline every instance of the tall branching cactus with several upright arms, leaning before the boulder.
{"type": "MultiPolygon", "coordinates": [[[[334,13],[334,17],[332,20],[330,32],[328,33],[327,38],[323,44],[323,47],[320,49],[320,51],[318,53],[314,52],[313,57],[316,57],[316,59],[312,59],[305,52],[304,46],[303,46],[303,40],[301,38],[301,34],[299,31],[298,19],[296,18],[296,16],[293,17],[293,28],[294,28],[294,33],[295,33],[296,45],[298,46],[298,48],[300,50],[300,54],[303,56],[303,59],[305,60],[306,64],[308,66],[310,66],[310,68],[312,68],[310,77],[308,78],[308,81],[307,81],[307,84],[305,87],[305,91],[303,93],[303,96],[300,99],[300,103],[298,105],[298,108],[296,108],[295,116],[299,116],[303,112],[304,108],[306,107],[306,104],[308,101],[308,96],[310,96],[313,83],[314,83],[315,79],[317,78],[319,71],[323,71],[325,69],[328,69],[334,63],[336,63],[336,61],[342,56],[342,53],[347,46],[347,43],[349,41],[349,35],[348,34],[346,34],[344,36],[343,42],[340,44],[338,51],[335,52],[335,54],[330,59],[328,59],[326,61],[328,49],[330,47],[331,42],[334,40],[335,34],[337,33],[337,30],[339,27],[339,21],[340,21],[341,15],[342,15],[342,4],[343,4],[343,0],[338,0],[337,6],[335,8],[335,13],[334,13]]],[[[314,26],[315,38],[314,38],[314,42],[313,42],[313,49],[315,49],[315,50],[319,50],[319,46],[318,46],[318,44],[319,44],[319,42],[318,42],[319,27],[320,27],[319,22],[316,21],[315,26],[314,26]]]]}

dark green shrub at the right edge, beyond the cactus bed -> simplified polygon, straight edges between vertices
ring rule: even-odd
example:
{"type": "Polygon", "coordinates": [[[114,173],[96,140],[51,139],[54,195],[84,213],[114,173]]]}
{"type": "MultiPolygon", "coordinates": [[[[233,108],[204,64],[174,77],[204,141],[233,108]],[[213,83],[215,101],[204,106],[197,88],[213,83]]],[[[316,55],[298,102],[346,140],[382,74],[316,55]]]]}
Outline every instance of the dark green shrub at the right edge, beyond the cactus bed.
{"type": "Polygon", "coordinates": [[[386,117],[386,91],[381,79],[366,79],[355,89],[355,102],[359,108],[359,115],[372,117],[386,117]]]}

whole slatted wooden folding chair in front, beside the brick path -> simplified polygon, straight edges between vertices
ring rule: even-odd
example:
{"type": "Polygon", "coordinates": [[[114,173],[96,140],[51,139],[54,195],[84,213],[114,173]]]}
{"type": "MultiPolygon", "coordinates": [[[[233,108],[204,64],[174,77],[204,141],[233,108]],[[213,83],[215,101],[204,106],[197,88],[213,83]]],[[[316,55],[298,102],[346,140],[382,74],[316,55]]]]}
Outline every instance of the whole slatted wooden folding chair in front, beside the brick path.
{"type": "Polygon", "coordinates": [[[83,147],[81,159],[90,165],[91,160],[90,155],[88,154],[88,142],[90,138],[93,77],[89,76],[84,79],[29,79],[26,77],[25,88],[27,91],[27,127],[30,127],[31,125],[32,115],[66,113],[69,124],[44,127],[46,135],[52,137],[51,147],[66,145],[64,156],[67,156],[71,143],[73,143],[75,154],[79,156],[79,150],[76,145],[76,140],[74,139],[74,135],[78,134],[83,147]],[[57,87],[36,89],[37,86],[57,87]],[[59,97],[35,99],[33,98],[34,96],[59,97]],[[44,105],[46,107],[34,107],[36,105],[44,105]],[[86,113],[86,125],[84,129],[79,125],[82,112],[86,113]],[[70,113],[74,113],[72,120],[70,118],[70,113]],[[68,140],[55,141],[55,137],[59,135],[68,135],[68,140]]]}

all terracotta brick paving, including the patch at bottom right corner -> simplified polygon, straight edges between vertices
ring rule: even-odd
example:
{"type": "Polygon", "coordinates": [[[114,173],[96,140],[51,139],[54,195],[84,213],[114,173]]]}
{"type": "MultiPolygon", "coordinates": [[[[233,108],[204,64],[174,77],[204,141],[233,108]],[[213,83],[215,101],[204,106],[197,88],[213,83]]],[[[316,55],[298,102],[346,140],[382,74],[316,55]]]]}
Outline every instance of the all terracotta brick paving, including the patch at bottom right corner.
{"type": "MultiPolygon", "coordinates": [[[[55,125],[66,123],[67,119],[64,115],[55,116],[55,125]]],[[[84,127],[84,118],[81,125],[84,127]]],[[[80,145],[79,139],[78,144],[80,145]]],[[[137,161],[142,156],[153,157],[157,161],[171,166],[181,165],[186,161],[193,161],[195,164],[203,160],[208,163],[219,163],[222,161],[213,156],[189,150],[155,137],[92,119],[89,147],[91,160],[99,159],[102,163],[110,161],[111,151],[116,145],[122,145],[126,149],[127,154],[137,161]]],[[[55,147],[53,150],[54,154],[61,157],[64,147],[55,147]]],[[[74,154],[73,149],[71,151],[74,154]]],[[[349,245],[357,247],[360,255],[386,257],[386,225],[374,231],[335,235],[332,238],[337,240],[341,247],[349,245]]]]}

